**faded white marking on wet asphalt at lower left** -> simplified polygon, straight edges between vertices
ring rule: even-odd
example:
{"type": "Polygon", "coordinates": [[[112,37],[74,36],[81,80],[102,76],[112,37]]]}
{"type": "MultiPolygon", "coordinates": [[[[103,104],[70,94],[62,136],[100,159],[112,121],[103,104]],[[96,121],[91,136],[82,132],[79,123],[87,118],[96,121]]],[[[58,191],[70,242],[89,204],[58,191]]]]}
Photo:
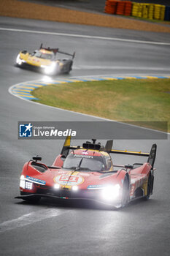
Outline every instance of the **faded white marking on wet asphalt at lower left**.
{"type": "Polygon", "coordinates": [[[58,210],[55,208],[47,208],[47,210],[39,210],[34,211],[29,214],[24,214],[23,216],[8,220],[7,222],[2,222],[0,224],[0,233],[5,232],[7,230],[14,230],[18,227],[25,227],[27,225],[31,225],[35,222],[40,222],[44,219],[49,219],[52,217],[57,217],[61,214],[68,213],[69,211],[58,210]]]}

